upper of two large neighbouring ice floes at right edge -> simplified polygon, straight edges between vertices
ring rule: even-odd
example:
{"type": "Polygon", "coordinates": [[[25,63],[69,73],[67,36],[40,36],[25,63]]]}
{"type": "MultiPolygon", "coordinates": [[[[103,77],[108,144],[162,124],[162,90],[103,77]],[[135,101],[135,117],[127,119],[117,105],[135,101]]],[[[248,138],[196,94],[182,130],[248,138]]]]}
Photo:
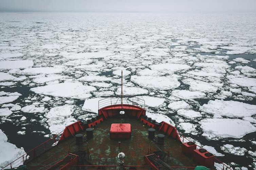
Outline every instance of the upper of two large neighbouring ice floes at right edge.
{"type": "Polygon", "coordinates": [[[256,105],[232,100],[209,100],[207,104],[200,106],[199,110],[212,115],[231,118],[243,118],[256,115],[256,105]]]}

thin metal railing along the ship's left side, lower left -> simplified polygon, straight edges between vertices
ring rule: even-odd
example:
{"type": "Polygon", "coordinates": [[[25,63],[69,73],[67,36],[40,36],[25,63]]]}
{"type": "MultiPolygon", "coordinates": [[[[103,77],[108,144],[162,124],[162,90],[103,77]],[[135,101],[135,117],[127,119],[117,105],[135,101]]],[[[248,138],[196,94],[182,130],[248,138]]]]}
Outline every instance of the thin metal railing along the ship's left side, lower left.
{"type": "Polygon", "coordinates": [[[35,148],[31,149],[24,155],[18,157],[16,160],[9,163],[5,167],[3,167],[3,168],[0,167],[1,170],[9,169],[9,168],[16,168],[20,165],[23,165],[25,162],[30,162],[33,159],[35,159],[37,156],[39,156],[42,153],[51,149],[53,146],[56,146],[63,131],[61,131],[59,134],[55,135],[54,137],[48,139],[47,141],[41,143],[40,145],[36,146],[35,148]]]}

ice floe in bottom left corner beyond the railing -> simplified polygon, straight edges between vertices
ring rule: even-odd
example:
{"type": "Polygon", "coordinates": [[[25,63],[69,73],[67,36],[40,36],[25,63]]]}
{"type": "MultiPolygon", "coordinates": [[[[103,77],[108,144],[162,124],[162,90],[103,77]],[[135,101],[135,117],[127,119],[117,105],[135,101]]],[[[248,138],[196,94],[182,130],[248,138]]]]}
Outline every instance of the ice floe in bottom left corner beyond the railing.
{"type": "MultiPolygon", "coordinates": [[[[7,136],[3,133],[3,131],[0,129],[0,168],[5,167],[8,165],[10,162],[15,161],[18,159],[20,156],[25,154],[26,152],[24,149],[17,148],[16,145],[7,142],[7,136]]],[[[20,160],[15,166],[23,165],[22,160],[20,160]]],[[[11,168],[11,167],[7,167],[11,168]]]]}

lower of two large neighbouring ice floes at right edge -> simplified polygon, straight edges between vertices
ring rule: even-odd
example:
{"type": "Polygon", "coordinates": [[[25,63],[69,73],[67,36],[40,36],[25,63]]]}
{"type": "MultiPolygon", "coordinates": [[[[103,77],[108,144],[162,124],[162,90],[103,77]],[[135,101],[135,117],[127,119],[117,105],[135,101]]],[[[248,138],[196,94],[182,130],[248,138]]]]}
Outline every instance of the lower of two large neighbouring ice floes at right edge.
{"type": "Polygon", "coordinates": [[[213,138],[242,138],[244,135],[255,132],[256,127],[250,122],[241,119],[207,118],[199,122],[208,139],[213,138]]]}

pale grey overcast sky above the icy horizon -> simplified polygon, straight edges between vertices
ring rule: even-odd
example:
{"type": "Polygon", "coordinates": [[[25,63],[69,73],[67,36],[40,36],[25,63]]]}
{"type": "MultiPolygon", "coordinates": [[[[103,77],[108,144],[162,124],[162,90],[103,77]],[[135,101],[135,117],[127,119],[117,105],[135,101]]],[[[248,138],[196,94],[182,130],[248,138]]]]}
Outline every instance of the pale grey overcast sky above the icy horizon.
{"type": "Polygon", "coordinates": [[[0,11],[256,13],[256,0],[0,0],[0,11]]]}

